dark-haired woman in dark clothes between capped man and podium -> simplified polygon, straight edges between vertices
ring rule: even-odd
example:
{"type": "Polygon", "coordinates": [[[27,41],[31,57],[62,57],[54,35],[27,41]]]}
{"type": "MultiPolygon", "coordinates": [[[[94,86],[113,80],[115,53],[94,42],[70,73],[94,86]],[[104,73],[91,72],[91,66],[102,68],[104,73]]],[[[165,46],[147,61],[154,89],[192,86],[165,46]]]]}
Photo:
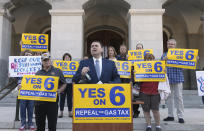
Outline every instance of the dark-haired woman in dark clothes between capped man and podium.
{"type": "MultiPolygon", "coordinates": [[[[65,53],[63,55],[64,61],[71,61],[72,56],[69,53],[65,53]]],[[[60,115],[59,118],[63,117],[63,111],[64,111],[64,104],[65,104],[65,98],[67,96],[67,106],[68,106],[68,112],[69,117],[72,117],[72,78],[65,78],[67,87],[64,90],[64,92],[60,93],[60,115]]]]}

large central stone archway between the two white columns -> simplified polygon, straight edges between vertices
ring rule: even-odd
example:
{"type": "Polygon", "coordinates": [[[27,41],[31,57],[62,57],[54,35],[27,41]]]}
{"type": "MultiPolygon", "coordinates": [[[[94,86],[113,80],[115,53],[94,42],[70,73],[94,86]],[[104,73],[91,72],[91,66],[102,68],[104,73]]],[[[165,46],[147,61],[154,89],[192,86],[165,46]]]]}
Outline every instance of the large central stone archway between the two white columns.
{"type": "Polygon", "coordinates": [[[107,47],[113,46],[118,52],[121,44],[128,44],[128,11],[130,4],[124,0],[89,0],[83,5],[84,54],[90,54],[90,44],[99,40],[107,47]]]}

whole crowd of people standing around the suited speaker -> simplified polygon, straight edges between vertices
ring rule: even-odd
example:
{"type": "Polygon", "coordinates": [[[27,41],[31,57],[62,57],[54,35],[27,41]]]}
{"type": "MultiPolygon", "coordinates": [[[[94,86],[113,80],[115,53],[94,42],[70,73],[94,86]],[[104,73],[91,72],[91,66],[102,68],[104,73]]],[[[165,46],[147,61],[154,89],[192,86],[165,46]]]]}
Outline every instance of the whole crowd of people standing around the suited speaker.
{"type": "MultiPolygon", "coordinates": [[[[176,40],[170,39],[167,42],[168,49],[176,48],[176,40]]],[[[136,45],[136,50],[144,49],[143,44],[139,43],[136,45]]],[[[134,75],[130,79],[120,78],[115,63],[115,60],[127,61],[127,47],[126,45],[120,45],[119,54],[117,54],[113,46],[108,47],[108,56],[102,58],[103,45],[100,41],[93,41],[91,44],[91,57],[84,56],[84,60],[80,61],[79,68],[73,78],[65,78],[62,71],[52,66],[51,58],[49,53],[31,52],[29,50],[24,51],[21,55],[24,56],[41,56],[42,69],[39,70],[36,75],[41,76],[58,76],[59,85],[56,102],[45,102],[45,101],[32,101],[32,100],[20,100],[20,116],[21,116],[21,127],[20,131],[26,128],[35,130],[32,122],[33,111],[35,108],[35,119],[37,131],[45,130],[46,117],[48,119],[49,131],[56,131],[57,117],[64,117],[64,106],[65,99],[67,97],[68,116],[72,117],[72,83],[80,83],[81,79],[86,78],[88,74],[91,79],[86,79],[86,83],[97,84],[97,83],[132,83],[132,88],[136,88],[139,91],[139,95],[136,98],[141,98],[144,104],[141,105],[146,120],[146,131],[151,131],[151,115],[156,123],[156,131],[161,131],[160,127],[160,114],[159,104],[160,95],[158,92],[159,82],[134,82],[134,75]],[[59,105],[59,115],[58,115],[59,105]],[[26,109],[28,114],[28,122],[26,123],[26,109]]],[[[166,52],[162,55],[161,60],[167,60],[166,52]]],[[[62,57],[63,61],[71,61],[72,56],[69,53],[65,53],[62,57]]],[[[144,61],[154,61],[155,57],[153,54],[147,53],[144,57],[144,61]]],[[[134,69],[132,67],[132,73],[134,69]]],[[[164,121],[174,121],[174,105],[177,111],[177,117],[179,123],[184,123],[184,106],[182,98],[183,90],[183,70],[181,68],[166,67],[166,73],[169,79],[171,94],[167,99],[168,116],[164,121]]],[[[19,89],[21,88],[19,78],[19,89]]],[[[140,105],[133,105],[133,118],[139,117],[140,105]]]]}

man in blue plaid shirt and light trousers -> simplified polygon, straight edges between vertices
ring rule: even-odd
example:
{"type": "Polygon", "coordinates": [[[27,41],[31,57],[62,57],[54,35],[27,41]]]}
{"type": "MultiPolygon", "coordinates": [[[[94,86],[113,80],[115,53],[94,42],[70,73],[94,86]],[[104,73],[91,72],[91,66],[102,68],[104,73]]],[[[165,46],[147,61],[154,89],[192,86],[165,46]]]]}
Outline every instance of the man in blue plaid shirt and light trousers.
{"type": "MultiPolygon", "coordinates": [[[[176,40],[170,39],[167,41],[167,48],[176,48],[176,40]]],[[[162,60],[167,60],[167,52],[162,55],[162,60]]],[[[167,76],[169,79],[171,94],[167,99],[168,117],[164,121],[174,121],[174,105],[176,107],[178,122],[184,123],[183,113],[183,69],[175,67],[166,67],[167,76]]]]}

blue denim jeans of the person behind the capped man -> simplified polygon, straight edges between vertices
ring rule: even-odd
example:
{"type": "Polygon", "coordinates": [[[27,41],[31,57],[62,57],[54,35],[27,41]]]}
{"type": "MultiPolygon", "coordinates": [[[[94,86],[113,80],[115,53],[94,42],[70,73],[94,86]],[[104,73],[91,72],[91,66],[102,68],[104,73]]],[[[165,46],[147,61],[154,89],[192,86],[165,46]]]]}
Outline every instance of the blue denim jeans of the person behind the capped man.
{"type": "Polygon", "coordinates": [[[34,108],[34,101],[20,100],[21,126],[26,126],[26,109],[27,109],[27,117],[28,117],[28,126],[33,125],[33,122],[32,122],[33,108],[34,108]]]}

